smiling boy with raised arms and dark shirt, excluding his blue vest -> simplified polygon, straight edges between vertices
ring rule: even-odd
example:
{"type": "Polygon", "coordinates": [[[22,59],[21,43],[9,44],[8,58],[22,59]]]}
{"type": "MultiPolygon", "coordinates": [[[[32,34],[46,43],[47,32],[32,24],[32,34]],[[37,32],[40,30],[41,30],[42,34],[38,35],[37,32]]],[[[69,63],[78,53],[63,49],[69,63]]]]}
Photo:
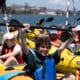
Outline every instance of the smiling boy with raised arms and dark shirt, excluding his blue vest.
{"type": "Polygon", "coordinates": [[[54,53],[48,55],[48,51],[51,47],[51,40],[49,36],[38,36],[36,38],[35,49],[30,49],[27,47],[25,41],[25,31],[29,28],[30,26],[26,27],[25,29],[21,29],[19,31],[19,35],[25,55],[24,60],[32,73],[43,65],[46,57],[51,57],[54,60],[54,65],[56,65],[60,61],[61,52],[73,41],[73,35],[71,35],[69,39],[67,39],[54,53]]]}

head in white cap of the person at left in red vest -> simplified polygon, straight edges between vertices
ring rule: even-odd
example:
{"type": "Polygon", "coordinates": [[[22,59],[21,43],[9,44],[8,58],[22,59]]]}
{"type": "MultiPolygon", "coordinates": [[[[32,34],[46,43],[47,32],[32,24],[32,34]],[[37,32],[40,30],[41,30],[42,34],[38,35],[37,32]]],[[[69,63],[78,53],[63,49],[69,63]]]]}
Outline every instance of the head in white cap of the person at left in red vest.
{"type": "Polygon", "coordinates": [[[3,44],[6,44],[7,47],[12,47],[15,44],[15,37],[11,33],[5,33],[3,35],[3,44]]]}

